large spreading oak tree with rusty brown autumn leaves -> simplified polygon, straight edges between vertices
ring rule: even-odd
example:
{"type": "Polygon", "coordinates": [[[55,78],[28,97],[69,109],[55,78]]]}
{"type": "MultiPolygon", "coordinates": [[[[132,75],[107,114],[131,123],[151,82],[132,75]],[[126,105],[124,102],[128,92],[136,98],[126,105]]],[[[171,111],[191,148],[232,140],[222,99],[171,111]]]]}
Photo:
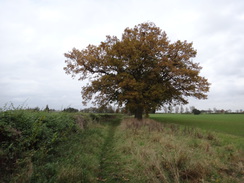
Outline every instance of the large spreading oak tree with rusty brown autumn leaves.
{"type": "Polygon", "coordinates": [[[154,23],[126,28],[122,38],[107,36],[98,46],[65,53],[64,70],[79,80],[84,102],[106,105],[116,102],[142,119],[163,105],[186,104],[187,97],[206,99],[207,79],[192,58],[197,51],[187,41],[171,42],[154,23]]]}

